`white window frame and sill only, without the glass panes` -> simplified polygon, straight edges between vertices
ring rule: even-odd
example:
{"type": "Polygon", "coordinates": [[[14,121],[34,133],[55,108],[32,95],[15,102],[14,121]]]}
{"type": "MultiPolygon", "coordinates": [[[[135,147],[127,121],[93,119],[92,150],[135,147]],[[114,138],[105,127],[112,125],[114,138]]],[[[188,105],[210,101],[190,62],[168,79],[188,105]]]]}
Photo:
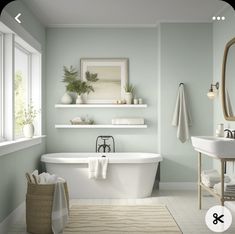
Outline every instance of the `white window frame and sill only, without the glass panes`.
{"type": "MultiPolygon", "coordinates": [[[[41,112],[36,117],[35,136],[31,139],[14,137],[14,49],[15,43],[19,44],[31,54],[29,77],[31,77],[31,89],[29,96],[32,98],[33,105],[36,109],[41,110],[41,45],[20,25],[16,24],[14,20],[9,20],[9,16],[2,17],[0,21],[0,31],[3,35],[3,72],[2,74],[2,106],[7,107],[4,109],[1,122],[3,129],[4,141],[0,140],[0,156],[6,155],[24,148],[31,147],[36,144],[42,143],[42,123],[41,112]],[[4,22],[4,23],[3,23],[4,22]],[[9,23],[9,26],[6,22],[9,23]],[[12,26],[12,27],[10,27],[12,26]],[[14,30],[14,31],[13,31],[14,30]],[[20,35],[20,36],[18,36],[20,35]],[[23,39],[25,38],[25,40],[23,39]],[[27,42],[26,42],[27,41],[27,42]]],[[[30,98],[30,97],[29,97],[30,98]]],[[[0,135],[1,136],[1,135],[0,135]]]]}

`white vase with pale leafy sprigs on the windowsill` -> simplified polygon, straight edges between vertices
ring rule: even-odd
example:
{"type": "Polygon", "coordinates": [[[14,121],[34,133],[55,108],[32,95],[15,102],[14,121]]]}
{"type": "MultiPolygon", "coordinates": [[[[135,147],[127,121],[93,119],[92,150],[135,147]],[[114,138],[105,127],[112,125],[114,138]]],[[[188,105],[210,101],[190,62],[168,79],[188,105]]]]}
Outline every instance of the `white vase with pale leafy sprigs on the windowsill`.
{"type": "Polygon", "coordinates": [[[23,134],[26,138],[32,138],[34,135],[33,121],[37,116],[38,111],[30,103],[28,108],[21,110],[17,115],[18,123],[23,126],[23,134]]]}

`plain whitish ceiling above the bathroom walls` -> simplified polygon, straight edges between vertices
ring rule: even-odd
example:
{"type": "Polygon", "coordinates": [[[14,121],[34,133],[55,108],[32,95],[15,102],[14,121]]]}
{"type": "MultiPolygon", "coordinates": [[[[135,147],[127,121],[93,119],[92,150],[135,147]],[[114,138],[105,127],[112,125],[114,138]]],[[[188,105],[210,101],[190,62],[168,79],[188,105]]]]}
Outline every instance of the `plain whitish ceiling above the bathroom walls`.
{"type": "Polygon", "coordinates": [[[48,27],[154,26],[211,22],[228,7],[221,0],[22,0],[48,27]]]}

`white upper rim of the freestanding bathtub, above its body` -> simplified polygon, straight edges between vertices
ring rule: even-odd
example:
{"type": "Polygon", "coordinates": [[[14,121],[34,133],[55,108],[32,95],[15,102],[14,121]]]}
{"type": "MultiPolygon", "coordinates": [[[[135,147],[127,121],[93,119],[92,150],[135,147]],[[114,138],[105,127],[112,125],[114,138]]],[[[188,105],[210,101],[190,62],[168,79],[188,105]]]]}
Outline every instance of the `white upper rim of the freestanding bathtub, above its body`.
{"type": "Polygon", "coordinates": [[[163,160],[162,156],[158,153],[143,153],[143,152],[118,152],[118,153],[94,153],[94,152],[63,152],[63,153],[48,153],[41,155],[40,161],[43,163],[50,164],[82,164],[88,163],[88,155],[90,157],[101,157],[106,155],[109,157],[109,163],[122,163],[122,164],[138,164],[138,163],[159,163],[163,160]],[[115,154],[119,154],[122,156],[117,158],[115,154]],[[62,156],[67,155],[67,156],[62,156]],[[79,155],[81,157],[76,157],[75,155],[79,155]],[[112,156],[113,155],[113,156],[112,156]],[[134,158],[134,155],[137,158],[134,158]],[[62,156],[62,157],[61,157],[62,156]],[[70,157],[69,157],[70,156],[70,157]],[[73,156],[73,157],[71,157],[73,156]],[[83,157],[82,157],[83,156],[83,157]],[[124,157],[126,156],[126,158],[124,157]],[[141,157],[142,156],[142,157],[141,157]]]}

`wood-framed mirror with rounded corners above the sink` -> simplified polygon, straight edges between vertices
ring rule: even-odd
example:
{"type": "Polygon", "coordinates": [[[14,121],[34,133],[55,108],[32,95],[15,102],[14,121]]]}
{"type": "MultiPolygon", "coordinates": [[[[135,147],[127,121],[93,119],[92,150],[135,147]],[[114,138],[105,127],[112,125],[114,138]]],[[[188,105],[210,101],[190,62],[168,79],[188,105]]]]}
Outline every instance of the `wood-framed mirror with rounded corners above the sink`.
{"type": "Polygon", "coordinates": [[[222,105],[225,119],[235,121],[235,38],[226,44],[224,50],[222,105]]]}

